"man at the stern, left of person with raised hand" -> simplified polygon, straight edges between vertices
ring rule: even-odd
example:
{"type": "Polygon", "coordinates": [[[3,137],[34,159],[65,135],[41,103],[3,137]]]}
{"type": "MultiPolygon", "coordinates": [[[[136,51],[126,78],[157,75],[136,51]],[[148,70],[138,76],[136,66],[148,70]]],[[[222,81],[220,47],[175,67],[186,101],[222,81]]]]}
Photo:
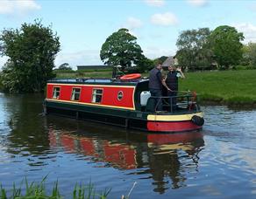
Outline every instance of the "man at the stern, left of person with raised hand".
{"type": "Polygon", "coordinates": [[[162,100],[160,99],[162,96],[162,86],[165,86],[167,90],[170,91],[170,89],[167,87],[165,79],[162,78],[161,69],[162,64],[159,62],[158,65],[156,65],[156,67],[149,72],[149,91],[151,96],[159,97],[154,99],[154,107],[156,111],[162,111],[162,100]]]}

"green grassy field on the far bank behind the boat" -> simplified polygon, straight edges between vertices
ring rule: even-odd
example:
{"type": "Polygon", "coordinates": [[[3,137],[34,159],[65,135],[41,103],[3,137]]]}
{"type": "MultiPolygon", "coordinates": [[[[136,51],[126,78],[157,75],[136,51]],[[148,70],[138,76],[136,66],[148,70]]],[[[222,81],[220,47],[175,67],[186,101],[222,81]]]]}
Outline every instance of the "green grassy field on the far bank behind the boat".
{"type": "MultiPolygon", "coordinates": [[[[143,73],[143,77],[148,73],[143,73]]],[[[196,91],[200,99],[220,104],[256,104],[256,70],[188,72],[181,91],[196,91]]],[[[58,73],[57,78],[110,78],[111,72],[58,73]]]]}

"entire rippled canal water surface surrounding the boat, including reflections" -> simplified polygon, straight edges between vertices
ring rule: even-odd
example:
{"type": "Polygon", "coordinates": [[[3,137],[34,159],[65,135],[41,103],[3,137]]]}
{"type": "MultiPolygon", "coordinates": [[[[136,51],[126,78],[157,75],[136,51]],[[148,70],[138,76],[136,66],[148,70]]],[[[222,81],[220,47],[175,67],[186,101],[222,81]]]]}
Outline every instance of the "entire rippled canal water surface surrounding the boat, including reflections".
{"type": "Polygon", "coordinates": [[[203,130],[144,132],[42,115],[41,95],[0,93],[0,183],[58,180],[109,198],[256,198],[256,111],[203,106],[203,130]]]}

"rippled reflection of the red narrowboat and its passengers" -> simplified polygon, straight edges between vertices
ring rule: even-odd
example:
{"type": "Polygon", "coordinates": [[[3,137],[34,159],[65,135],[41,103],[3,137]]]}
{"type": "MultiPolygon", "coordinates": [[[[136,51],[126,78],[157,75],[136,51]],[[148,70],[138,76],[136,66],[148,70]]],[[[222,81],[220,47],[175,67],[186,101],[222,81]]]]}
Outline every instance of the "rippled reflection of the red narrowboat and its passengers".
{"type": "Polygon", "coordinates": [[[85,161],[103,162],[101,167],[131,170],[129,175],[141,175],[141,179],[147,175],[156,192],[186,186],[186,172],[197,170],[204,144],[201,132],[145,134],[72,121],[58,124],[47,117],[51,148],[63,148],[79,159],[83,155],[85,161]]]}

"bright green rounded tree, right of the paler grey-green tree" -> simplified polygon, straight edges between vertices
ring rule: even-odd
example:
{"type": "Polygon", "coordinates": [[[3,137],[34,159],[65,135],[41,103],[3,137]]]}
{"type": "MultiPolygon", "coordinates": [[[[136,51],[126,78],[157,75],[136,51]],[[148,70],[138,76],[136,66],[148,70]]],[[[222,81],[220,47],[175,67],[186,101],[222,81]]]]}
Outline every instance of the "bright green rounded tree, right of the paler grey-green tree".
{"type": "Polygon", "coordinates": [[[228,25],[218,26],[212,31],[210,44],[217,64],[224,69],[237,65],[243,55],[242,40],[244,40],[243,33],[228,25]]]}

